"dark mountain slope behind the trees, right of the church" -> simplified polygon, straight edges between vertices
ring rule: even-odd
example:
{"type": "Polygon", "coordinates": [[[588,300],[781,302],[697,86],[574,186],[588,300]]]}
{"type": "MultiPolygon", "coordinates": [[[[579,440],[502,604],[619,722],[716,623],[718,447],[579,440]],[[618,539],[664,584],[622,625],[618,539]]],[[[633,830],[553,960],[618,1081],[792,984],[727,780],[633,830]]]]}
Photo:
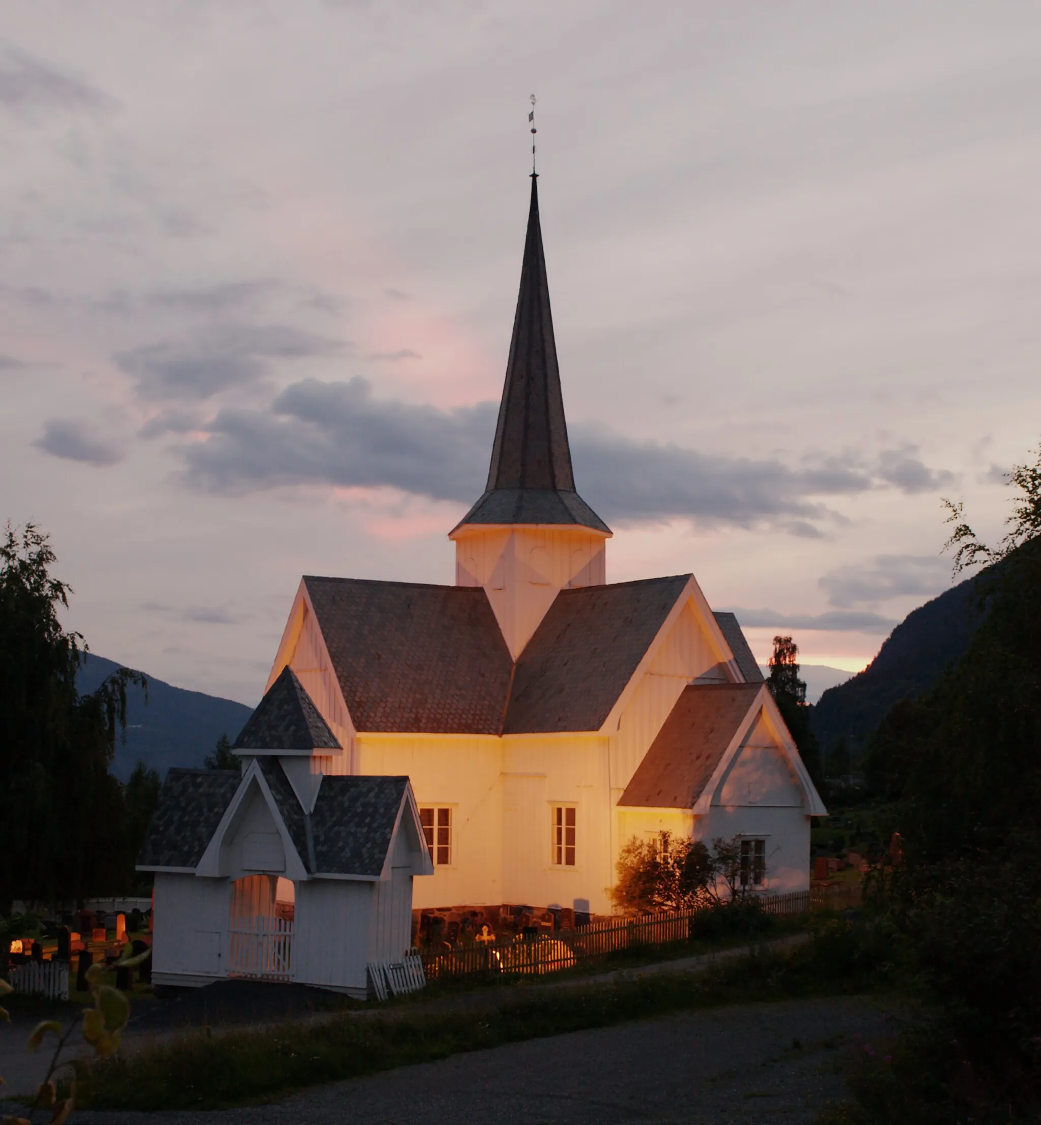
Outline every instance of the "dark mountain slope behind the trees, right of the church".
{"type": "Polygon", "coordinates": [[[855,760],[897,700],[914,699],[964,651],[978,615],[975,579],[967,578],[909,613],[863,672],[828,688],[810,711],[810,727],[825,754],[843,736],[855,760]]]}

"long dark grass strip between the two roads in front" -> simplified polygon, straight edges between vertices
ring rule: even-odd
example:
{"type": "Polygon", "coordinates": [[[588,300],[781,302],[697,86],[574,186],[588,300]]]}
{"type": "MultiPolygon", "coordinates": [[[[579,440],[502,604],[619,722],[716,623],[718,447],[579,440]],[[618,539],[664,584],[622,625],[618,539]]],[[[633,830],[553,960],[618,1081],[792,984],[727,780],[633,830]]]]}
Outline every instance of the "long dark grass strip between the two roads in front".
{"type": "MultiPolygon", "coordinates": [[[[418,1006],[213,1038],[192,1033],[84,1071],[77,1100],[90,1109],[223,1109],[503,1043],[723,1004],[849,994],[878,986],[863,966],[851,971],[847,956],[827,956],[828,940],[824,935],[787,956],[751,955],[698,976],[519,989],[494,1011],[436,1012],[418,1006]]],[[[831,940],[834,945],[834,934],[831,940]]]]}

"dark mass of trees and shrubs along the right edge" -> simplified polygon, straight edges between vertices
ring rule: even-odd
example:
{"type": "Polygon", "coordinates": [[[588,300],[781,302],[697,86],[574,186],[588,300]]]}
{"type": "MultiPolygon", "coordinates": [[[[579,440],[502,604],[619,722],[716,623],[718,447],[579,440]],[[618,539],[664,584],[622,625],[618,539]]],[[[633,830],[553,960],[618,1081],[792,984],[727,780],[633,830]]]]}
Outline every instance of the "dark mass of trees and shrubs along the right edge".
{"type": "Polygon", "coordinates": [[[958,664],[894,708],[871,746],[901,843],[877,901],[928,1015],[903,1029],[891,1065],[854,1069],[855,1120],[1041,1114],[1041,452],[1009,480],[1020,495],[998,548],[948,505],[955,569],[988,565],[987,613],[958,664]]]}

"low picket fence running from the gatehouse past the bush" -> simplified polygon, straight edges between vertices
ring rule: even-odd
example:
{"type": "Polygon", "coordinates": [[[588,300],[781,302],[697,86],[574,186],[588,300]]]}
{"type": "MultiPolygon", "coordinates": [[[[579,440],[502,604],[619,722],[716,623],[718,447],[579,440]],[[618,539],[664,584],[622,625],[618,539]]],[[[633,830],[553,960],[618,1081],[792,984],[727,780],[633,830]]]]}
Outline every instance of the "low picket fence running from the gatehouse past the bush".
{"type": "MultiPolygon", "coordinates": [[[[815,899],[810,891],[793,891],[790,894],[763,894],[759,903],[768,915],[798,915],[822,909],[825,899],[822,894],[815,899]]],[[[420,956],[428,980],[468,976],[472,973],[541,975],[620,950],[689,940],[691,921],[706,909],[709,907],[635,918],[601,918],[577,929],[537,934],[509,945],[466,945],[455,950],[423,951],[420,956]]]]}

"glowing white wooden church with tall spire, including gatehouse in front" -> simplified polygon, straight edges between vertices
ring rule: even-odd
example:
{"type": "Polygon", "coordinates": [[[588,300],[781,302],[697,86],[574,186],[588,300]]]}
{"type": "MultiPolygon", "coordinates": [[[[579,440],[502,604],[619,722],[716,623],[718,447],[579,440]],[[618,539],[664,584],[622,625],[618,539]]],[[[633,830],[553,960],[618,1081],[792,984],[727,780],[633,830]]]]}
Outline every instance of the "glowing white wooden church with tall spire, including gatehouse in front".
{"type": "Polygon", "coordinates": [[[233,915],[248,893],[277,914],[277,879],[297,942],[320,902],[345,917],[361,901],[347,889],[375,886],[362,966],[380,926],[392,953],[407,944],[380,921],[394,901],[404,917],[406,882],[412,908],[607,914],[621,847],[663,830],[739,836],[751,885],[805,889],[826,810],[737,620],[692,574],[609,583],[610,538],[575,490],[532,177],[487,487],[449,532],[456,584],[300,580],[236,742],[242,776],[171,771],[163,791],[141,865],[156,873],[156,979],[174,885],[178,909],[210,896],[217,934],[230,896],[233,915]],[[383,810],[365,863],[350,801],[383,810]]]}

